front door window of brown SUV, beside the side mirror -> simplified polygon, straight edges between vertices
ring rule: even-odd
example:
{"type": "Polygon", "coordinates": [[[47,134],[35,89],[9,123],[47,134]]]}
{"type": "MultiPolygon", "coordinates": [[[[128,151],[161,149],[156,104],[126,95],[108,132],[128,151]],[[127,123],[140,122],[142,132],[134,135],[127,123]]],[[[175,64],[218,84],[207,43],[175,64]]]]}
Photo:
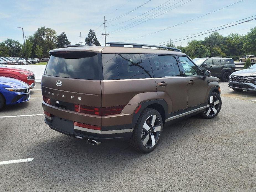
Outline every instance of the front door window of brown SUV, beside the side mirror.
{"type": "Polygon", "coordinates": [[[185,56],[179,56],[182,67],[186,76],[202,75],[197,66],[185,56]]]}

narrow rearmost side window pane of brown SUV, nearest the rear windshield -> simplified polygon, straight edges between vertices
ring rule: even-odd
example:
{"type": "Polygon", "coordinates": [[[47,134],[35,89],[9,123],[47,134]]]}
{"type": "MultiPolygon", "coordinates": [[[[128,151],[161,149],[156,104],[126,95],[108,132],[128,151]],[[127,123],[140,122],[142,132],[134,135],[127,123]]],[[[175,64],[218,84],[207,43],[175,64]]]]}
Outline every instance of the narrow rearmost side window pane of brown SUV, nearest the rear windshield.
{"type": "Polygon", "coordinates": [[[116,54],[102,54],[104,80],[119,79],[116,54]]]}

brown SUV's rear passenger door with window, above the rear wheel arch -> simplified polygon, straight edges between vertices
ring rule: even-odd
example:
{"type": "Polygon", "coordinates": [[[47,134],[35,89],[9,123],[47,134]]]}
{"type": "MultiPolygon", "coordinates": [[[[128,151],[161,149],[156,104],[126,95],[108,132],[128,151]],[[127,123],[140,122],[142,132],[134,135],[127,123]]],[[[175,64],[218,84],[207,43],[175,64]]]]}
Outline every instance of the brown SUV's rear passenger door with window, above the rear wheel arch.
{"type": "Polygon", "coordinates": [[[159,99],[168,104],[168,113],[184,113],[187,108],[188,85],[173,55],[148,54],[159,99]]]}

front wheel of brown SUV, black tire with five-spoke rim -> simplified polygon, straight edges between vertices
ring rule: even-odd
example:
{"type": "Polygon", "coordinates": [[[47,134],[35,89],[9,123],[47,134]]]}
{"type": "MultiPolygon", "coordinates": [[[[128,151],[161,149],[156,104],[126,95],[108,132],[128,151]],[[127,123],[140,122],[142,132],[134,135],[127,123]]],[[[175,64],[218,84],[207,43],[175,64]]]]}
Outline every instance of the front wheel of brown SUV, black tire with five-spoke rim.
{"type": "Polygon", "coordinates": [[[211,119],[216,117],[219,114],[219,111],[221,110],[221,104],[222,102],[219,94],[212,92],[207,103],[207,108],[205,109],[205,111],[201,112],[200,114],[201,117],[205,119],[211,119]],[[211,97],[213,98],[212,101],[211,101],[211,97]],[[219,103],[217,103],[218,101],[219,103]],[[214,105],[215,102],[216,104],[214,105]]]}

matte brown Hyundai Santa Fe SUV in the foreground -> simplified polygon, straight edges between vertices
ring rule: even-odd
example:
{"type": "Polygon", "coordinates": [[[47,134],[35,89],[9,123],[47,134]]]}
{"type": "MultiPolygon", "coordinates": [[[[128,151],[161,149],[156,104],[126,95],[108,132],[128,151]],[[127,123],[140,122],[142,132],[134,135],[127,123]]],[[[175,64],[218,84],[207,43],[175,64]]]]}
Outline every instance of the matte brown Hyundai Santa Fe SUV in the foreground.
{"type": "Polygon", "coordinates": [[[42,105],[50,128],[92,145],[129,140],[135,150],[147,153],[159,143],[165,122],[198,113],[218,115],[218,79],[179,49],[108,44],[49,52],[42,105]]]}

